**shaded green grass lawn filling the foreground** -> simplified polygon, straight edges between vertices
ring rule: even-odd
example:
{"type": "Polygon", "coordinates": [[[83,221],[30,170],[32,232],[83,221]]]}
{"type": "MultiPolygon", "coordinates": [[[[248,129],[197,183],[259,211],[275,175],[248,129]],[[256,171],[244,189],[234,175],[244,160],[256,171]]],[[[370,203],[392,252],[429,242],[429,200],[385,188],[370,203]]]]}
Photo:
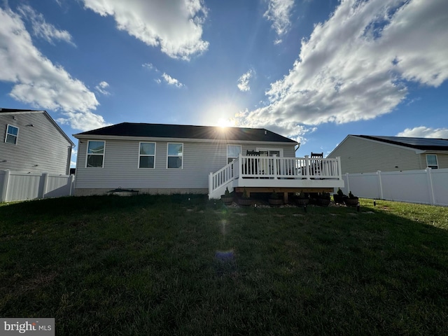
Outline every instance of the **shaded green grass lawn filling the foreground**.
{"type": "Polygon", "coordinates": [[[448,208],[360,205],[0,204],[0,316],[56,335],[448,335],[448,208]]]}

